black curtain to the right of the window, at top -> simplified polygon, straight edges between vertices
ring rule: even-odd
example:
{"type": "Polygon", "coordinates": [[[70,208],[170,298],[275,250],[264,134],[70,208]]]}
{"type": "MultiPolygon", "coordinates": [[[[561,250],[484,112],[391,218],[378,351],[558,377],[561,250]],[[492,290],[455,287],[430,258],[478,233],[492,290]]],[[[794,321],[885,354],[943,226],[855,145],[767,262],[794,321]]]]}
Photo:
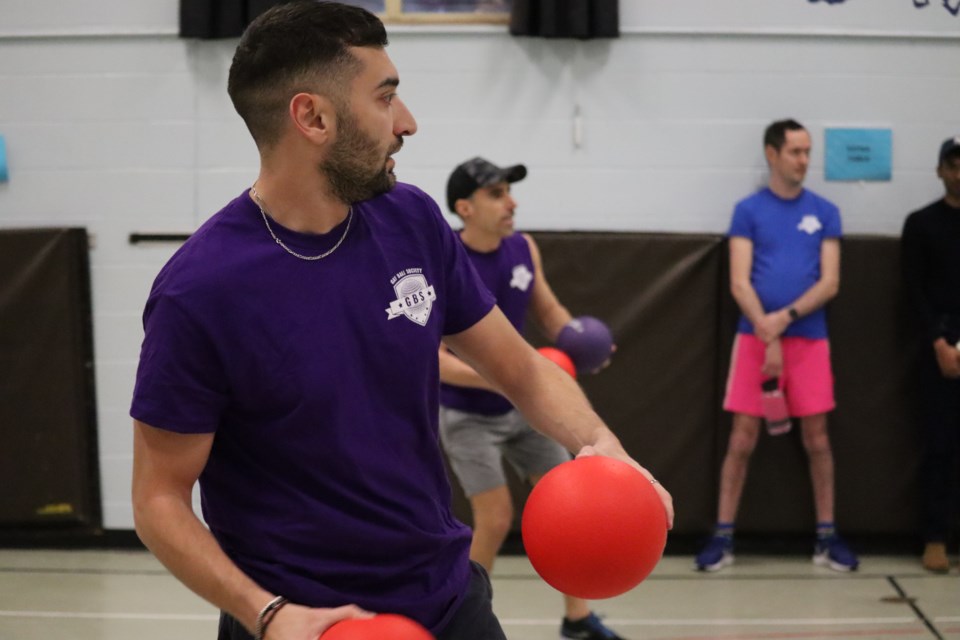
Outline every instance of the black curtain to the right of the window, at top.
{"type": "Polygon", "coordinates": [[[616,38],[619,0],[513,0],[510,33],[542,38],[616,38]]]}

